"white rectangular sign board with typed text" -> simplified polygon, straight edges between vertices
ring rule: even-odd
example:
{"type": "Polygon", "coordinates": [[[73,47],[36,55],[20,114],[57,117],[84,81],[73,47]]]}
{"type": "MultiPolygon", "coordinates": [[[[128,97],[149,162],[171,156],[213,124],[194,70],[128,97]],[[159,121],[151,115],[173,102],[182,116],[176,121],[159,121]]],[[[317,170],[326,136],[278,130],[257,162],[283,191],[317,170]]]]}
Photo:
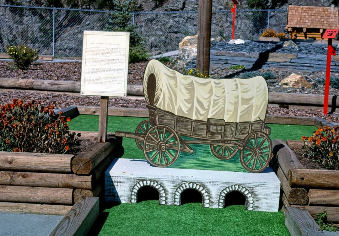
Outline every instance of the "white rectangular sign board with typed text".
{"type": "Polygon", "coordinates": [[[129,32],[84,31],[81,95],[126,97],[129,32]]]}

